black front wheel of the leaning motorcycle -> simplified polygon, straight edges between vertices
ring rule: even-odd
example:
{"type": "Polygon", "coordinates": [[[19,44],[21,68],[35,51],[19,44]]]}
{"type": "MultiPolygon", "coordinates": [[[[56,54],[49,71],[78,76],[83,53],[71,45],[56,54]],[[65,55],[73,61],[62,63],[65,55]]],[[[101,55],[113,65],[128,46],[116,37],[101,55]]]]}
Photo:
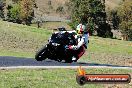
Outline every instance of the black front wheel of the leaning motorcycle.
{"type": "Polygon", "coordinates": [[[45,60],[47,58],[47,47],[44,46],[42,49],[40,49],[36,55],[35,55],[35,59],[37,61],[42,61],[45,60]]]}

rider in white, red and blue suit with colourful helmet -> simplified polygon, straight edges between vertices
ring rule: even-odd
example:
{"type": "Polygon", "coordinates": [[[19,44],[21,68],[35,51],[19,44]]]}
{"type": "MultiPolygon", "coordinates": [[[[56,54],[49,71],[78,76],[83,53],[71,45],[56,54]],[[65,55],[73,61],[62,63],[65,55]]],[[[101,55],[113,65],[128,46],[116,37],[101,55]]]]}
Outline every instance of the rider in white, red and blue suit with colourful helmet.
{"type": "Polygon", "coordinates": [[[88,36],[89,36],[87,26],[83,22],[81,22],[77,26],[76,32],[77,32],[76,39],[78,41],[78,44],[72,45],[70,47],[73,50],[77,50],[77,56],[72,57],[73,61],[77,61],[85,53],[85,49],[87,49],[87,45],[88,45],[88,36]]]}

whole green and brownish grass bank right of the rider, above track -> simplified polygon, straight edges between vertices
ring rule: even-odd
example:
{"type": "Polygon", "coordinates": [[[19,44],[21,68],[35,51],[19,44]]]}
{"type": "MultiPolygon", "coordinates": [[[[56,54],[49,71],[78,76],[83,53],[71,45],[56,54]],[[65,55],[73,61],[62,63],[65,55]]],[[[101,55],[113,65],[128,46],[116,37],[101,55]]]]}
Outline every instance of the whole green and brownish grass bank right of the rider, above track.
{"type": "Polygon", "coordinates": [[[132,42],[92,36],[80,61],[132,66],[132,42]]]}

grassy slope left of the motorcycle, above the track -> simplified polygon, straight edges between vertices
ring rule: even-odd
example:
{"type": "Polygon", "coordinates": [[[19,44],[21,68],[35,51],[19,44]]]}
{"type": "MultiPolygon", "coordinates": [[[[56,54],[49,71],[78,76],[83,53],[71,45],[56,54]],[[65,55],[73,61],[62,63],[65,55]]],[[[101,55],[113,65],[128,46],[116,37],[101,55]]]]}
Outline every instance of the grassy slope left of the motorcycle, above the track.
{"type": "Polygon", "coordinates": [[[29,57],[47,43],[50,30],[0,21],[0,55],[29,57]],[[29,55],[28,55],[29,54],[29,55]]]}

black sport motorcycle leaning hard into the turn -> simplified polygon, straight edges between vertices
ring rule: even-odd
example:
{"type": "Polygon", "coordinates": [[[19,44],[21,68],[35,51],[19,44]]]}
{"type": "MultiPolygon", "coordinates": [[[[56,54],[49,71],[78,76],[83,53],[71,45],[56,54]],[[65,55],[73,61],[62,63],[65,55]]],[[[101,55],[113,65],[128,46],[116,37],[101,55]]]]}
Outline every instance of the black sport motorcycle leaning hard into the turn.
{"type": "MultiPolygon", "coordinates": [[[[77,45],[75,35],[75,31],[66,31],[64,28],[60,28],[59,32],[52,34],[51,38],[48,40],[48,44],[36,53],[35,59],[42,61],[48,58],[58,62],[64,60],[66,63],[72,63],[72,57],[76,56],[80,49],[83,48],[82,46],[78,50],[73,50],[67,47],[77,45]]],[[[74,60],[74,62],[77,60],[74,60]]]]}

